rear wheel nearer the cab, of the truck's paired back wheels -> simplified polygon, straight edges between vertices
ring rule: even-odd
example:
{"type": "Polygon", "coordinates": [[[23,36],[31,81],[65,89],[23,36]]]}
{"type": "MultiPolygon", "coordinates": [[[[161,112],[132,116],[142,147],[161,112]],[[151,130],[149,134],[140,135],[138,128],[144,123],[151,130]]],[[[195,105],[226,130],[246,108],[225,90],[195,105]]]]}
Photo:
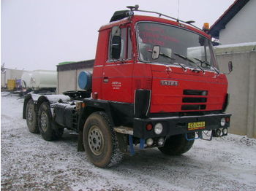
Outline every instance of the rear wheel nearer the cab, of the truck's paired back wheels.
{"type": "Polygon", "coordinates": [[[38,112],[38,127],[42,138],[46,141],[53,141],[61,138],[64,128],[53,129],[53,117],[48,102],[43,102],[38,112]]]}

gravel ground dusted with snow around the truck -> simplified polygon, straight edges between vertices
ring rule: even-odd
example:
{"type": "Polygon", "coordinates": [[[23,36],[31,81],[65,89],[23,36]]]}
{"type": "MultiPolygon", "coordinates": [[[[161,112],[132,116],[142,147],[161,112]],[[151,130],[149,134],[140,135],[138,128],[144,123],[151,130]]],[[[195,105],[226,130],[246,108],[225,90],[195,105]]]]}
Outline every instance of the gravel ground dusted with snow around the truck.
{"type": "Polygon", "coordinates": [[[197,140],[178,157],[137,149],[101,169],[76,151],[72,131],[59,141],[29,133],[22,109],[22,99],[1,94],[1,190],[256,190],[256,139],[197,140]]]}

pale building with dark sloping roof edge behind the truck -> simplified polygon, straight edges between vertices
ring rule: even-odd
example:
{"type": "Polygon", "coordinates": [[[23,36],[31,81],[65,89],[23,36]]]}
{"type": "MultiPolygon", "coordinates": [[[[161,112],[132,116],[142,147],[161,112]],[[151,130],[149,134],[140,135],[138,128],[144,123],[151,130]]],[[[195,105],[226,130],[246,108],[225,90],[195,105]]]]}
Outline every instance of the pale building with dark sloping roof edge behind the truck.
{"type": "Polygon", "coordinates": [[[220,44],[256,42],[256,0],[236,0],[211,26],[220,44]]]}

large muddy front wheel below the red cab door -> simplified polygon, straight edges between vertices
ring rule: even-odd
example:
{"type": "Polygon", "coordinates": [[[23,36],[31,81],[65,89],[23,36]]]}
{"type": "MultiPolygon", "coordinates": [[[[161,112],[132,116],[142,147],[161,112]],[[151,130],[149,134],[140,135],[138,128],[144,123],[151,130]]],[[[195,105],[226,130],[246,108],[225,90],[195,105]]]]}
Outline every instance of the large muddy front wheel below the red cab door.
{"type": "Polygon", "coordinates": [[[116,132],[105,112],[95,112],[86,120],[83,146],[91,163],[100,168],[117,165],[124,156],[119,150],[116,132]]]}

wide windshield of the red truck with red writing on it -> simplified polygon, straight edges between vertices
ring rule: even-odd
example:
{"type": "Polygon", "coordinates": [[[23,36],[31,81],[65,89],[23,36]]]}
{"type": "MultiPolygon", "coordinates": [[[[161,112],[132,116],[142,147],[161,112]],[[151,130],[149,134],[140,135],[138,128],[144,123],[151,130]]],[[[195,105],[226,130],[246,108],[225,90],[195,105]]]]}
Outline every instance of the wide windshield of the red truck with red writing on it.
{"type": "Polygon", "coordinates": [[[137,25],[140,61],[214,70],[218,69],[211,41],[183,28],[160,23],[140,22],[137,25]],[[153,46],[160,47],[159,58],[152,59],[153,46]]]}

